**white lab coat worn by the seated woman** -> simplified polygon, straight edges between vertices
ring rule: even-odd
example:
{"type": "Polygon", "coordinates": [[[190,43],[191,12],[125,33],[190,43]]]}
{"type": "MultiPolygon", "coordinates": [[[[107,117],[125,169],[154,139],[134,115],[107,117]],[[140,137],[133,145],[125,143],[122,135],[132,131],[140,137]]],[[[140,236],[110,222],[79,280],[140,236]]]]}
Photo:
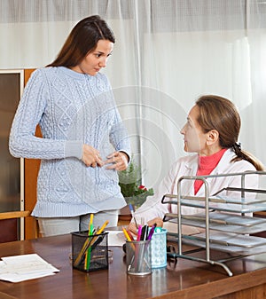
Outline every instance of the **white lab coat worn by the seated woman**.
{"type": "MultiPolygon", "coordinates": [[[[223,153],[222,159],[212,171],[211,175],[240,173],[246,170],[255,171],[254,165],[250,162],[241,160],[231,162],[235,157],[235,153],[228,149],[223,153]]],[[[162,204],[161,199],[164,194],[177,194],[177,180],[183,176],[196,176],[199,166],[199,155],[193,154],[184,156],[178,159],[168,171],[168,175],[160,182],[153,196],[147,197],[143,205],[136,210],[135,218],[138,223],[147,222],[155,217],[163,218],[166,213],[177,213],[177,206],[171,204],[162,204]]],[[[241,187],[241,177],[209,177],[207,178],[209,194],[215,194],[225,187],[241,187]]],[[[257,175],[247,175],[245,186],[246,188],[257,189],[259,179],[257,175]]],[[[181,185],[182,195],[194,195],[194,180],[183,180],[181,185]]],[[[235,193],[236,194],[236,193],[235,193]]],[[[239,196],[239,192],[237,193],[239,196]]],[[[224,193],[223,195],[232,195],[232,192],[224,193]]],[[[205,196],[204,184],[196,196],[205,196]]],[[[195,209],[191,207],[183,207],[182,214],[196,214],[203,212],[203,209],[195,209]]]]}

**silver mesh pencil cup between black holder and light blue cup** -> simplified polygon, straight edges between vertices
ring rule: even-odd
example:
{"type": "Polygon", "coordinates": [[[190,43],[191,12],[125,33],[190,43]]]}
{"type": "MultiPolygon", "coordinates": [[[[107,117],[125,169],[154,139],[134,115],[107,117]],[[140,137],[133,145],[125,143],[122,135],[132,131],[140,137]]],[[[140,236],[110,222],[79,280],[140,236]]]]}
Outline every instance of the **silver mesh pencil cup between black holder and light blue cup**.
{"type": "Polygon", "coordinates": [[[127,272],[132,275],[152,273],[151,240],[126,240],[127,272]]]}

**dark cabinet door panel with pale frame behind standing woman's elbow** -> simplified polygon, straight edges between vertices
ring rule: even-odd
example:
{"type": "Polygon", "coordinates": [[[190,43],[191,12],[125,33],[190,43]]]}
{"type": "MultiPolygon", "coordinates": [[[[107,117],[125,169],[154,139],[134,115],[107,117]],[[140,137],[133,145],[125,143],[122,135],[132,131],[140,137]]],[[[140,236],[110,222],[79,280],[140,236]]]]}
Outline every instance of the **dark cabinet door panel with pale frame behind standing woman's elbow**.
{"type": "MultiPolygon", "coordinates": [[[[24,209],[23,160],[14,158],[9,152],[9,135],[12,120],[20,102],[24,86],[22,69],[0,70],[0,212],[24,209]]],[[[2,215],[3,216],[3,215],[2,215]]],[[[23,239],[23,220],[0,221],[1,241],[23,239]]]]}

